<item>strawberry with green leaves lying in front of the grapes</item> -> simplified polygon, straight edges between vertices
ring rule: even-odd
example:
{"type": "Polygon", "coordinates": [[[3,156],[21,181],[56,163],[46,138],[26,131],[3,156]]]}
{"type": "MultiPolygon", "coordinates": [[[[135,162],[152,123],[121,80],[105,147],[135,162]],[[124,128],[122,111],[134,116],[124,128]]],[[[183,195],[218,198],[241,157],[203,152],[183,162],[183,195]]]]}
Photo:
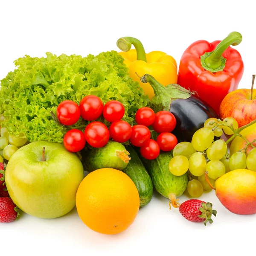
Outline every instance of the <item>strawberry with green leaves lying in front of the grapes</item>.
{"type": "Polygon", "coordinates": [[[206,203],[198,199],[189,199],[182,203],[179,207],[181,215],[188,221],[204,222],[206,226],[209,221],[212,224],[212,214],[216,216],[217,211],[212,209],[211,203],[206,203]]]}

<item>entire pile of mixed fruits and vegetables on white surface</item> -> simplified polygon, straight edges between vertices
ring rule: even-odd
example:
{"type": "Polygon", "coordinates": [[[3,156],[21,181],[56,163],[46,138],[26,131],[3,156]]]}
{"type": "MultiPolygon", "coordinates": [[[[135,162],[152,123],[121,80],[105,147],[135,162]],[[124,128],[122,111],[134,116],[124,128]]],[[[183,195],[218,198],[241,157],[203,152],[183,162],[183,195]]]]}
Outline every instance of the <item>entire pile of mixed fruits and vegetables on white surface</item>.
{"type": "Polygon", "coordinates": [[[256,89],[235,90],[244,65],[230,47],[241,40],[193,43],[179,74],[131,37],[120,53],[15,61],[0,89],[0,198],[13,200],[0,222],[15,205],[39,218],[76,205],[92,230],[116,234],[153,188],[193,222],[213,222],[212,204],[195,199],[212,189],[230,212],[256,213],[256,89]]]}

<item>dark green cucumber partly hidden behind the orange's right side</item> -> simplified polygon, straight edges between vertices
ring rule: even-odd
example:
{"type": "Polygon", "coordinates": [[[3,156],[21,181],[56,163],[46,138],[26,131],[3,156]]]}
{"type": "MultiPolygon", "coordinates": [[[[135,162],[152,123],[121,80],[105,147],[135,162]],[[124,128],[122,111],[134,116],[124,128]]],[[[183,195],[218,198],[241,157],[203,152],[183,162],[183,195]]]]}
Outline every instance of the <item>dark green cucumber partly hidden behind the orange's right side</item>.
{"type": "Polygon", "coordinates": [[[130,153],[131,160],[123,172],[131,178],[137,187],[140,195],[140,207],[143,207],[151,201],[153,195],[152,180],[134,148],[128,146],[126,150],[130,153]]]}

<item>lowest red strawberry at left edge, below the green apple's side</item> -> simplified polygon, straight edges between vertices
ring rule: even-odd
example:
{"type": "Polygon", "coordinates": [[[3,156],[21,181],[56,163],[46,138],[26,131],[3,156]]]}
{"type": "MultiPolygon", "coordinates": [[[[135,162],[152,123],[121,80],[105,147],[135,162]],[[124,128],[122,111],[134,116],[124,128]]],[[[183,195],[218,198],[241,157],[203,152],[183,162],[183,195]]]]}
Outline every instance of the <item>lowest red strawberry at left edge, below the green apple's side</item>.
{"type": "Polygon", "coordinates": [[[0,198],[0,222],[15,221],[18,209],[11,198],[0,198]]]}

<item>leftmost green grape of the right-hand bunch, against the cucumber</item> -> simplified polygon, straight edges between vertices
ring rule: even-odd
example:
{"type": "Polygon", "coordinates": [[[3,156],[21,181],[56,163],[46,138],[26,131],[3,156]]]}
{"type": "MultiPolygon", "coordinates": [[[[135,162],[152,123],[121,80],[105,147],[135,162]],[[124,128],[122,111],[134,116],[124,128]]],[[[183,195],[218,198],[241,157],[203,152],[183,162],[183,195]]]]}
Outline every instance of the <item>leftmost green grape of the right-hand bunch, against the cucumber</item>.
{"type": "Polygon", "coordinates": [[[184,156],[173,157],[169,162],[169,170],[175,176],[181,176],[189,169],[189,160],[184,156]]]}

